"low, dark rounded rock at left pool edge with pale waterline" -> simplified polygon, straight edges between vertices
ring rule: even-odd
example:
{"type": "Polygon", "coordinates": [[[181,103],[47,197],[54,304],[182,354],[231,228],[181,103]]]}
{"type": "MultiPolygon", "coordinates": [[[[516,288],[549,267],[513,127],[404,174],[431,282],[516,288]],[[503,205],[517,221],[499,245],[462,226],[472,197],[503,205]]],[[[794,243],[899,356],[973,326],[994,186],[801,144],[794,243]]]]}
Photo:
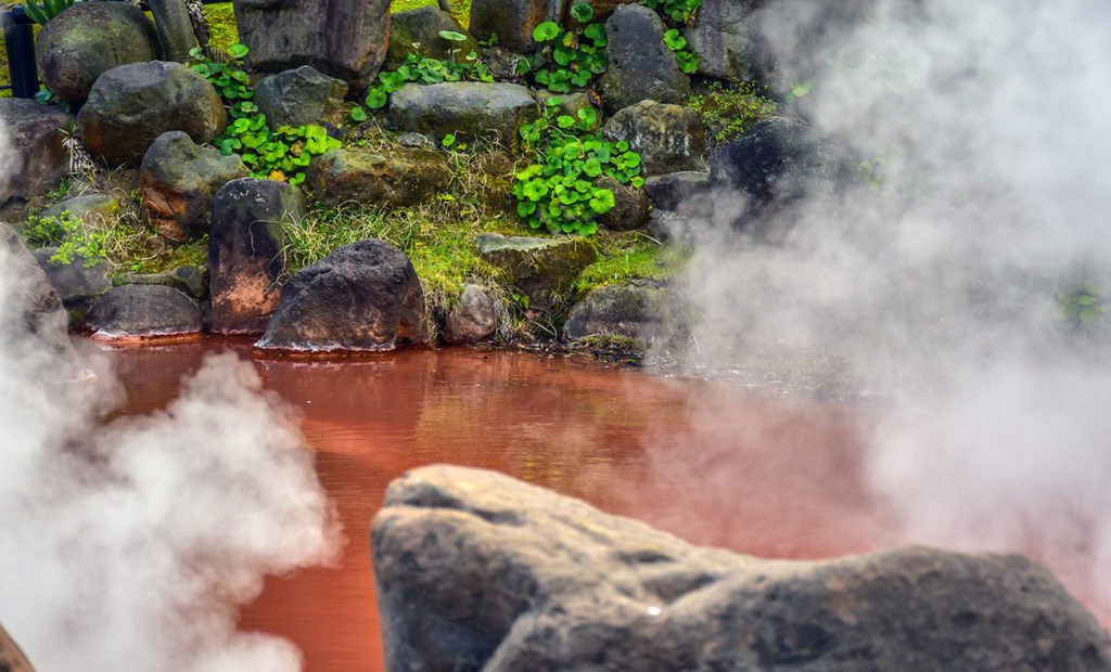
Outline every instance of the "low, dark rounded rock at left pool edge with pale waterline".
{"type": "Polygon", "coordinates": [[[192,335],[201,327],[192,299],[161,284],[113,287],[92,304],[83,324],[101,341],[192,335]]]}

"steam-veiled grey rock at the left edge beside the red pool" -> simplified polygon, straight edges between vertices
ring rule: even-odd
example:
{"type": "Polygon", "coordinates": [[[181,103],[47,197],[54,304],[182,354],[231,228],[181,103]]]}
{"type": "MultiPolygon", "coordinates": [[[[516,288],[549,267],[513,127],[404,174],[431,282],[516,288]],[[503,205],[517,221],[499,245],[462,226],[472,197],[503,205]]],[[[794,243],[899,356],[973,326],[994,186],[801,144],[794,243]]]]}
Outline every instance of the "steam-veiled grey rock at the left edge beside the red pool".
{"type": "Polygon", "coordinates": [[[69,340],[66,309],[34,257],[11,227],[0,223],[0,263],[8,279],[0,287],[0,339],[14,358],[34,358],[48,375],[80,375],[69,340]]]}

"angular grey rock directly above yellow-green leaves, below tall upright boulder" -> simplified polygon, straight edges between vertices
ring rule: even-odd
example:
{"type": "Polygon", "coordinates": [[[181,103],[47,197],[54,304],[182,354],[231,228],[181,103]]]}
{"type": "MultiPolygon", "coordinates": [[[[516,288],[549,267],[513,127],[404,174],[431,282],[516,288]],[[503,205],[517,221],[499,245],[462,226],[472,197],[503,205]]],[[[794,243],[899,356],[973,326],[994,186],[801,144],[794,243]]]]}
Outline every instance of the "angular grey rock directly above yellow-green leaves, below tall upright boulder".
{"type": "Polygon", "coordinates": [[[343,122],[347,82],[312,66],[271,74],[254,86],[254,103],[272,128],[343,122]]]}

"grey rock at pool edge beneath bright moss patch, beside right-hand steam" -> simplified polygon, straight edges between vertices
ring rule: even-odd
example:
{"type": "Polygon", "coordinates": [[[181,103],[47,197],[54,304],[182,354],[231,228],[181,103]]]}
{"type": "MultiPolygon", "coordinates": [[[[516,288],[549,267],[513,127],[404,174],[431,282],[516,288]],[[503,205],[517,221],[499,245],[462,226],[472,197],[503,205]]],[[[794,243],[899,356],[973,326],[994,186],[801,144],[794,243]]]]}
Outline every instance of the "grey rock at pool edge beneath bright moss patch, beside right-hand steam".
{"type": "Polygon", "coordinates": [[[571,309],[563,339],[619,335],[642,341],[665,338],[674,309],[662,290],[630,284],[595,287],[571,309]]]}

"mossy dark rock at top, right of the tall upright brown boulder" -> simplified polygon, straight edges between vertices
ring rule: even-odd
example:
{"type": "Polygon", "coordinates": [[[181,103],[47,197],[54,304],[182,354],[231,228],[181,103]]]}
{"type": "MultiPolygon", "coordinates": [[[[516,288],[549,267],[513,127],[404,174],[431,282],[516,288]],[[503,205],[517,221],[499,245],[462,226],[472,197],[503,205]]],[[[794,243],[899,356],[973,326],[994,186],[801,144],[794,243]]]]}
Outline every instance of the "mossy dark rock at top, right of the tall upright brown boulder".
{"type": "Polygon", "coordinates": [[[409,54],[464,62],[471,52],[482,54],[478,40],[463,29],[459,19],[434,4],[427,4],[390,14],[390,48],[386,52],[382,70],[397,70],[404,66],[409,54]],[[458,32],[467,39],[460,42],[441,38],[440,32],[444,30],[458,32]]]}

